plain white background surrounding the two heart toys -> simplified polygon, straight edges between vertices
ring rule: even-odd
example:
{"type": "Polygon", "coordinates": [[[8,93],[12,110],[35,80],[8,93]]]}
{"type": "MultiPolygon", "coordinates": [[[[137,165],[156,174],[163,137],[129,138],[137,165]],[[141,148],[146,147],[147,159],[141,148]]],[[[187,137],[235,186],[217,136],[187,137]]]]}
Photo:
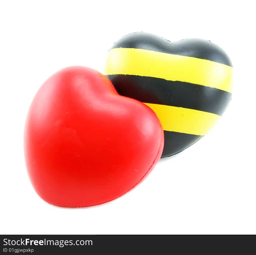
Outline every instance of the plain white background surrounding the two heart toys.
{"type": "Polygon", "coordinates": [[[256,233],[255,7],[253,1],[1,1],[1,233],[256,233]],[[126,195],[101,206],[59,208],[41,200],[26,173],[23,130],[40,85],[57,70],[104,73],[123,35],[221,46],[235,72],[233,98],[195,145],[161,159],[126,195]]]}

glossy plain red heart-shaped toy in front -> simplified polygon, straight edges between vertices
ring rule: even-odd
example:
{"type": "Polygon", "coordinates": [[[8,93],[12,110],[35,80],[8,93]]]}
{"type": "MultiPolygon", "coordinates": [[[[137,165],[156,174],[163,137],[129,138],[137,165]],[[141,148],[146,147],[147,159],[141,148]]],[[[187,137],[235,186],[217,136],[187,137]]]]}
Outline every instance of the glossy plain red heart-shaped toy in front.
{"type": "Polygon", "coordinates": [[[103,74],[67,67],[38,90],[24,133],[38,195],[56,206],[103,204],[136,186],[159,160],[163,129],[145,104],[103,74]]]}

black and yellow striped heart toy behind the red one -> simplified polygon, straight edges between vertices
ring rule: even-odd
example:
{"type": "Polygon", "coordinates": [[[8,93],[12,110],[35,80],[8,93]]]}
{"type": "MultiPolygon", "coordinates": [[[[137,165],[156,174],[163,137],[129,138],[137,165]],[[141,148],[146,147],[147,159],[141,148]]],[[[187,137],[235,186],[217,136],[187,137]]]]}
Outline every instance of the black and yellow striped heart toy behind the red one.
{"type": "Polygon", "coordinates": [[[162,123],[162,157],[172,156],[208,133],[227,108],[232,64],[216,44],[202,39],[170,42],[132,33],[109,51],[106,76],[120,95],[148,105],[162,123]]]}

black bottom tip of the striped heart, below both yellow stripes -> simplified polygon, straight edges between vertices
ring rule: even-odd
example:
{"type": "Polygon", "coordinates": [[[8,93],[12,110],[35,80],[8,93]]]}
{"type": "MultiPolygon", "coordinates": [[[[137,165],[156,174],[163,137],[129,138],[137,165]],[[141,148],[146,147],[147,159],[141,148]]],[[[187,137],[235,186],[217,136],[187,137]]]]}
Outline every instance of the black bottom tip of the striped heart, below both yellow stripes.
{"type": "Polygon", "coordinates": [[[173,156],[197,142],[203,135],[191,135],[164,130],[164,148],[161,158],[173,156]]]}

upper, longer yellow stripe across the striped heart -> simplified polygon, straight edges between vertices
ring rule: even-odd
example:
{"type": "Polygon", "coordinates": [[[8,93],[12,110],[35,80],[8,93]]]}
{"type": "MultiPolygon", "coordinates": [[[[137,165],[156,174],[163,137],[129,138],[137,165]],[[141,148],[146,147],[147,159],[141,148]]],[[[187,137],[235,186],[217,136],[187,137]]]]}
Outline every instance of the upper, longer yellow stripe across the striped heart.
{"type": "Polygon", "coordinates": [[[230,66],[200,58],[145,49],[115,48],[109,51],[106,75],[149,76],[231,92],[232,69],[230,66]]]}

